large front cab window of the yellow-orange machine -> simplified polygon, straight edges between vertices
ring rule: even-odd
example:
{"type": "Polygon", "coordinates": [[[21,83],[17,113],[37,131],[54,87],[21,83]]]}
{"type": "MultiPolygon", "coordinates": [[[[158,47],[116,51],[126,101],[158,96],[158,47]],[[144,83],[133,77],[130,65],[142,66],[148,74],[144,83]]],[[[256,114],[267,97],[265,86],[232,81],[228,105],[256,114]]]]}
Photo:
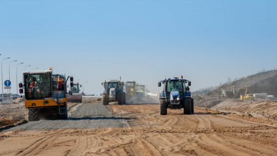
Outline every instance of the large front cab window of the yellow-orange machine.
{"type": "Polygon", "coordinates": [[[24,81],[27,100],[38,100],[52,96],[50,73],[24,74],[24,81]]]}

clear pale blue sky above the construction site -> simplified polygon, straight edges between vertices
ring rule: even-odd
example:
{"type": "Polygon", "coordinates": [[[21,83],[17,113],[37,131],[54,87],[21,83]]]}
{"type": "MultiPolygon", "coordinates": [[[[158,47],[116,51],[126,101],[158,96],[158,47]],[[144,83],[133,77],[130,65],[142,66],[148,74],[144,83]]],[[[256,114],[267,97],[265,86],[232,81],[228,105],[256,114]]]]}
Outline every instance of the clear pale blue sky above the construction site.
{"type": "Polygon", "coordinates": [[[18,80],[53,67],[93,94],[120,76],[151,92],[165,75],[216,86],[277,67],[276,19],[277,1],[0,1],[3,79],[17,60],[18,80]]]}

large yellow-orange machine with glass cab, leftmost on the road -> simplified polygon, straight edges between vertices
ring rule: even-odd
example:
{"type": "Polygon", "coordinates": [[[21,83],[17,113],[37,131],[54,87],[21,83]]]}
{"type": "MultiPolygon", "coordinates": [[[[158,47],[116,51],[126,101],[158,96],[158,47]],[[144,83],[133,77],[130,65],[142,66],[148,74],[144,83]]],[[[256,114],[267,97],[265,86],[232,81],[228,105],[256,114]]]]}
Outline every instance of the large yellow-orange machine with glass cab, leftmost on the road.
{"type": "MultiPolygon", "coordinates": [[[[68,76],[67,80],[69,77],[70,84],[73,84],[73,77],[68,76]]],[[[23,79],[24,85],[19,84],[19,92],[25,92],[28,121],[38,121],[41,113],[51,116],[51,119],[67,119],[65,75],[53,74],[50,68],[43,71],[24,71],[23,79]]]]}

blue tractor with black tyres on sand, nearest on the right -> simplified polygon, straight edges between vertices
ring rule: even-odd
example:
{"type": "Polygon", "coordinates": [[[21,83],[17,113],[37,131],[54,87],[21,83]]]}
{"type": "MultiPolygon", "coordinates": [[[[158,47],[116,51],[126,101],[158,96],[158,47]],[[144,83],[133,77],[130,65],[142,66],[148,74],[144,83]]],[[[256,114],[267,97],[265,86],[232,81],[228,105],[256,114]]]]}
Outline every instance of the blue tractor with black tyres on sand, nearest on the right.
{"type": "Polygon", "coordinates": [[[189,86],[191,82],[179,77],[174,79],[163,80],[158,83],[161,87],[164,84],[164,91],[160,93],[160,114],[166,115],[167,108],[170,109],[181,109],[184,108],[184,114],[194,113],[193,98],[191,97],[189,86]],[[188,83],[188,86],[186,86],[188,83]]]}

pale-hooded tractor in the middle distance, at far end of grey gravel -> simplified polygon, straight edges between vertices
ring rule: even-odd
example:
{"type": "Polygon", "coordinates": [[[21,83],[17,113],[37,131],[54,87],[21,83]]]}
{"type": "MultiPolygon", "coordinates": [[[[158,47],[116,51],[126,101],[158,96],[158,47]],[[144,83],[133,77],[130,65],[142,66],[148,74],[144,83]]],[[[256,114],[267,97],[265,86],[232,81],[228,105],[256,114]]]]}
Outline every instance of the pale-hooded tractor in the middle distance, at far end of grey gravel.
{"type": "Polygon", "coordinates": [[[102,104],[108,105],[109,102],[118,102],[118,105],[126,104],[126,94],[123,91],[124,83],[119,80],[109,80],[101,83],[104,86],[102,94],[102,104]]]}

